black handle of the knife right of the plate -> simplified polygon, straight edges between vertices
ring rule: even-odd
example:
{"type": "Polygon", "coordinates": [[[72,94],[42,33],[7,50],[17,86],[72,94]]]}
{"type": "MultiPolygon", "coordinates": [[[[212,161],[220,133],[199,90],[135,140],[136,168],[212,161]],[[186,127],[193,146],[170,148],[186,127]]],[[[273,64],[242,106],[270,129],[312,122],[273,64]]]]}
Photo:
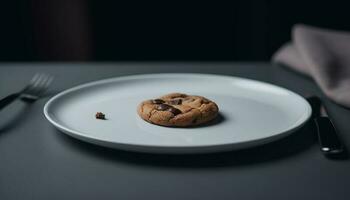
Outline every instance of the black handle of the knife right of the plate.
{"type": "Polygon", "coordinates": [[[343,153],[344,146],[338,137],[332,121],[328,117],[316,117],[315,123],[321,151],[326,156],[336,156],[343,153]]]}

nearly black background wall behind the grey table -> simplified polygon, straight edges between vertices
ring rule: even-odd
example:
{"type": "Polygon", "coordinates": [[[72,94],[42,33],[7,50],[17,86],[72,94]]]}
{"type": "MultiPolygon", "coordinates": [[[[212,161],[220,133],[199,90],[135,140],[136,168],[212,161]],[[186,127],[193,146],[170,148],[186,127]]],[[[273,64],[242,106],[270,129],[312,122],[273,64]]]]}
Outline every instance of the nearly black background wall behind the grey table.
{"type": "Polygon", "coordinates": [[[1,2],[0,61],[269,60],[296,23],[350,30],[346,1],[1,2]]]}

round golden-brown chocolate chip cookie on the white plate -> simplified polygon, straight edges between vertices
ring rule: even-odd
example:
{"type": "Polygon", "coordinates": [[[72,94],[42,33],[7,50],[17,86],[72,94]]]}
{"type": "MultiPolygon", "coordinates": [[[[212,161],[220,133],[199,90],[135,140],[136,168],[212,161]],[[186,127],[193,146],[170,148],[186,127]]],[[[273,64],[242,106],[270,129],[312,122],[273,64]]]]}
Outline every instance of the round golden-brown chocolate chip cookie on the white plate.
{"type": "Polygon", "coordinates": [[[201,96],[171,93],[140,103],[137,112],[142,119],[161,126],[196,126],[213,120],[219,108],[201,96]]]}

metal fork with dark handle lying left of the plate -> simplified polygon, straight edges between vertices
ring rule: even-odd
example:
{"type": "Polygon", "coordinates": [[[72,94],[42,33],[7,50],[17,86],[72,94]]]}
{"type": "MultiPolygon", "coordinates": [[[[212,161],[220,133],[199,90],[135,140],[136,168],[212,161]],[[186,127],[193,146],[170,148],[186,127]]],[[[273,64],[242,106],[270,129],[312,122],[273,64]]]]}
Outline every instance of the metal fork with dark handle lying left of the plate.
{"type": "Polygon", "coordinates": [[[53,76],[44,73],[37,73],[22,90],[17,93],[10,94],[0,100],[0,110],[21,98],[24,101],[33,102],[47,90],[53,80],[53,76]]]}

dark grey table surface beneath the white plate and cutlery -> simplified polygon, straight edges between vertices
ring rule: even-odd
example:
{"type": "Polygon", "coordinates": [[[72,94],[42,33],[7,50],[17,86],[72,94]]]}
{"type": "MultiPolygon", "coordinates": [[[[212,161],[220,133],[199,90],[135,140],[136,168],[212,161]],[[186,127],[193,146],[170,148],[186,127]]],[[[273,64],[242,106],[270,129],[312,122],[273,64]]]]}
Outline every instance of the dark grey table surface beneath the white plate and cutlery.
{"type": "Polygon", "coordinates": [[[312,123],[277,142],[206,155],[130,153],[57,131],[43,106],[81,83],[141,73],[200,72],[261,80],[320,95],[345,144],[350,111],[325,99],[304,76],[269,63],[0,64],[0,97],[35,72],[56,77],[47,97],[0,112],[0,199],[350,199],[350,162],[319,151],[312,123]]]}

